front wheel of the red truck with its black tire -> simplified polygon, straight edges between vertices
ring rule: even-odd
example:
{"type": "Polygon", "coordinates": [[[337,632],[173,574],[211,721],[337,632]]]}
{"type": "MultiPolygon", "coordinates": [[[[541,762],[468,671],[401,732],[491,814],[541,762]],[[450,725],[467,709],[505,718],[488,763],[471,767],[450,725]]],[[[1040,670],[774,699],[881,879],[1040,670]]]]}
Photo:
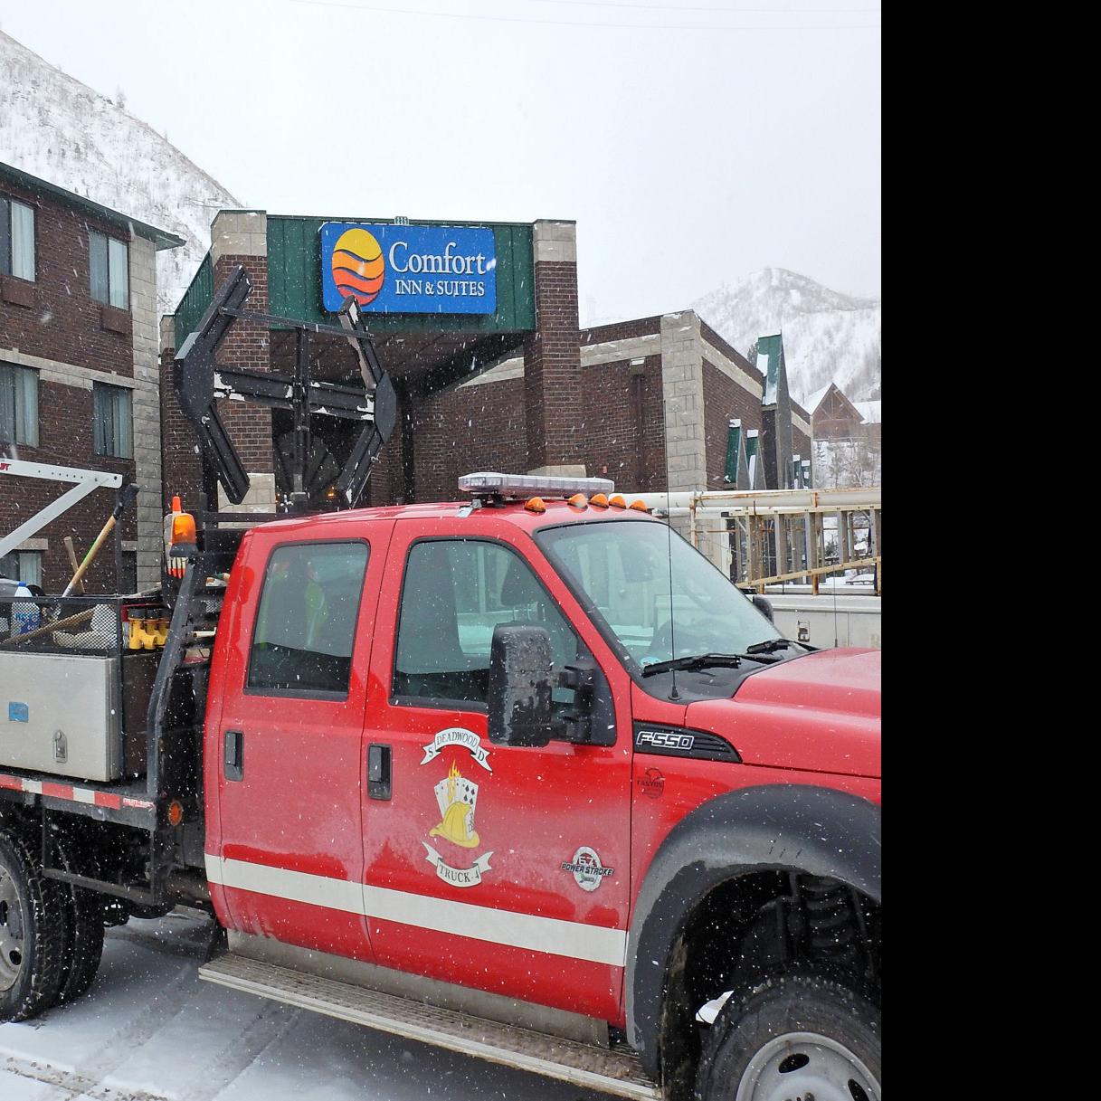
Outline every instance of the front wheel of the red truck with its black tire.
{"type": "Polygon", "coordinates": [[[786,974],[733,994],[704,1038],[697,1101],[881,1101],[880,1013],[829,979],[786,974]]]}

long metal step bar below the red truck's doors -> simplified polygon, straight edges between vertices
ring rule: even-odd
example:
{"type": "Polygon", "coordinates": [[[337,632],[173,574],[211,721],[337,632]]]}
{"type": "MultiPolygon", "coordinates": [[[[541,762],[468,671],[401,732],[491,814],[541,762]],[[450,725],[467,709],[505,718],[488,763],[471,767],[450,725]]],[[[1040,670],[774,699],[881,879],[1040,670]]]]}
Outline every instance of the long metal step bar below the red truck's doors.
{"type": "Polygon", "coordinates": [[[657,1101],[662,1095],[631,1051],[544,1036],[233,952],[200,967],[199,978],[615,1097],[657,1101]]]}

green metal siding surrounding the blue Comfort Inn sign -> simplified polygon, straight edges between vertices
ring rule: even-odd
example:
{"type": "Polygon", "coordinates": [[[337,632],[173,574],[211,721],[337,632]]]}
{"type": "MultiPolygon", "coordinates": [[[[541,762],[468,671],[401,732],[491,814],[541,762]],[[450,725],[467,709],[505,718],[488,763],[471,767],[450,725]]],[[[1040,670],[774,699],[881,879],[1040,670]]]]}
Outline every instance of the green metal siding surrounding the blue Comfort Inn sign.
{"type": "MultiPolygon", "coordinates": [[[[277,317],[334,324],[321,308],[321,225],[330,218],[268,216],[268,308],[277,317]]],[[[344,219],[341,219],[344,220],[344,219]]],[[[350,219],[349,219],[350,220],[350,219]]],[[[388,222],[385,218],[362,218],[388,222]]],[[[416,225],[482,226],[484,222],[418,221],[416,225]]],[[[535,328],[535,264],[530,225],[488,226],[497,247],[497,313],[367,314],[372,333],[526,333],[535,328]]],[[[188,292],[190,293],[190,292],[188,292]]],[[[208,299],[209,301],[209,299],[208,299]]]]}

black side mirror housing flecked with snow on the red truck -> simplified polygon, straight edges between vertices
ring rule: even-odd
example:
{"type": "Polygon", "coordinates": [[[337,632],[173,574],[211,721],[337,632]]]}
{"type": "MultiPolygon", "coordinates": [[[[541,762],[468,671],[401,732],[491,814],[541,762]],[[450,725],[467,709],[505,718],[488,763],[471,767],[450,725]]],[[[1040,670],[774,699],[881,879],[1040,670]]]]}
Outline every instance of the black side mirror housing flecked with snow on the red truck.
{"type": "Polygon", "coordinates": [[[489,740],[548,745],[554,676],[550,634],[542,626],[499,623],[489,657],[489,740]]]}

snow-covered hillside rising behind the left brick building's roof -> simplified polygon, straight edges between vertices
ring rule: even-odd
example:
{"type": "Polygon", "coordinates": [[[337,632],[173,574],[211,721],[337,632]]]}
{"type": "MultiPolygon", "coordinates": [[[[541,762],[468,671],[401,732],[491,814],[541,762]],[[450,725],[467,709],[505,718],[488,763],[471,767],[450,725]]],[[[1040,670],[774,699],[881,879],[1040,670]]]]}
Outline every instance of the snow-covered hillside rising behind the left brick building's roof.
{"type": "Polygon", "coordinates": [[[210,221],[241,204],[141,119],[0,32],[0,161],[184,238],[157,257],[171,313],[210,246],[210,221]]]}

